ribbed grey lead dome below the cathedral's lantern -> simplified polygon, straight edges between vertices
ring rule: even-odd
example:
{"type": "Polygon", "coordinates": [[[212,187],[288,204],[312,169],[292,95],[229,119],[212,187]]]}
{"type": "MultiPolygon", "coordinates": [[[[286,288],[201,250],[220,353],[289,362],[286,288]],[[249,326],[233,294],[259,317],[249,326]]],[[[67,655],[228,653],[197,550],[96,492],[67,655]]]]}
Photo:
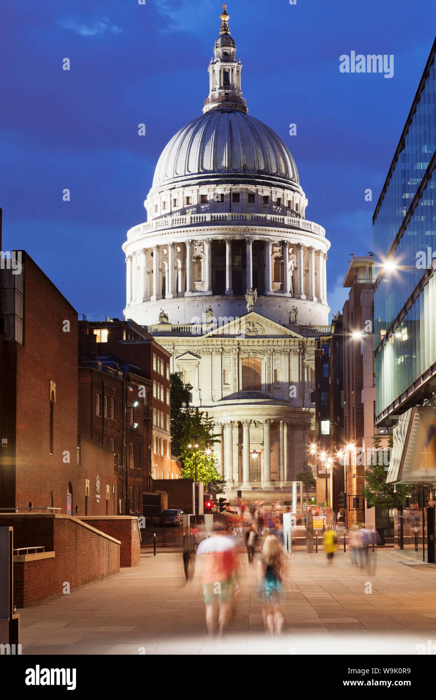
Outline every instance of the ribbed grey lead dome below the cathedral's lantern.
{"type": "Polygon", "coordinates": [[[157,162],[153,189],[211,174],[278,179],[282,186],[299,183],[295,161],[280,137],[260,120],[227,109],[208,111],[174,135],[157,162]]]}

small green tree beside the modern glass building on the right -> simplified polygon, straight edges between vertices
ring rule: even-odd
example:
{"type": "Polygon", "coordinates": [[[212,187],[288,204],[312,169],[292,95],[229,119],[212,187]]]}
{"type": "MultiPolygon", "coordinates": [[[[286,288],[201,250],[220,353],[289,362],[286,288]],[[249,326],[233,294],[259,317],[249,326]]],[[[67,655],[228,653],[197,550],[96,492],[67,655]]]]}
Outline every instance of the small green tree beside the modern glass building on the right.
{"type": "MultiPolygon", "coordinates": [[[[374,449],[381,449],[381,438],[375,435],[373,438],[374,449]]],[[[392,446],[393,438],[389,440],[389,447],[392,446]]],[[[386,470],[384,464],[377,463],[377,454],[371,459],[371,464],[365,469],[365,486],[363,488],[363,498],[366,498],[368,507],[379,505],[385,508],[400,508],[405,504],[405,500],[410,493],[408,484],[386,484],[386,470]],[[394,491],[395,487],[395,491],[394,491]]],[[[381,460],[383,462],[383,460],[381,460]]]]}

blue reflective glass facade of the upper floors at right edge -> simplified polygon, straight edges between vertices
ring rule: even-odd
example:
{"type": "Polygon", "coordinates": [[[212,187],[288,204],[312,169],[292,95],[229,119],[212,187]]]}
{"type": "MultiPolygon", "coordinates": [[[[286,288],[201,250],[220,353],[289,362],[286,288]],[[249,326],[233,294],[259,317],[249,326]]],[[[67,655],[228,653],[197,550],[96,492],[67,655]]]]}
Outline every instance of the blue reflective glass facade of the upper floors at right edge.
{"type": "Polygon", "coordinates": [[[373,217],[374,251],[395,265],[374,295],[376,423],[421,403],[436,372],[435,47],[373,217]]]}

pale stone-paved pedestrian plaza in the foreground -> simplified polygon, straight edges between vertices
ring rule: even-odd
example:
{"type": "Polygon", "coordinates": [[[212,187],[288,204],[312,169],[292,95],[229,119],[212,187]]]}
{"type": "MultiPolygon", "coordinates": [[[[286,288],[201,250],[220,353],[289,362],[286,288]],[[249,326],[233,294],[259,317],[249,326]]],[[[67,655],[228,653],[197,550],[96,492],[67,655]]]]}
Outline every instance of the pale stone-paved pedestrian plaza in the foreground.
{"type": "MultiPolygon", "coordinates": [[[[372,572],[349,552],[288,557],[279,638],[269,638],[255,567],[241,554],[240,593],[226,635],[209,638],[200,564],[185,583],[178,552],[18,610],[23,654],[417,654],[436,644],[436,567],[395,550],[372,555],[372,572]],[[367,592],[365,592],[367,591],[367,592]],[[371,591],[371,592],[370,592],[371,591]]],[[[435,646],[436,649],[436,646],[435,646]]]]}

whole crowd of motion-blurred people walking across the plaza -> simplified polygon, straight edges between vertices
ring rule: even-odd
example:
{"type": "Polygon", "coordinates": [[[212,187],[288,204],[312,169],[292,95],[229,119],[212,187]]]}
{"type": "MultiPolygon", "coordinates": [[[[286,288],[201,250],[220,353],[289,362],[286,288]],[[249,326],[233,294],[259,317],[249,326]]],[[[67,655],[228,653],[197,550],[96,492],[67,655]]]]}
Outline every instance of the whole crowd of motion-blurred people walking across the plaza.
{"type": "MultiPolygon", "coordinates": [[[[183,535],[183,564],[186,582],[194,576],[195,561],[202,559],[202,587],[206,605],[206,625],[211,636],[223,635],[237,608],[241,554],[246,551],[247,565],[257,579],[258,601],[262,605],[262,619],[267,633],[279,635],[283,627],[281,593],[286,569],[286,552],[283,546],[283,512],[289,507],[262,500],[254,503],[241,501],[226,513],[222,521],[215,522],[213,532],[193,526],[183,535]],[[260,545],[260,547],[259,547],[260,545]],[[260,549],[256,557],[256,551],[260,549]]],[[[304,524],[304,514],[300,517],[304,524]]],[[[294,517],[295,524],[298,523],[294,517]]],[[[356,566],[370,566],[369,552],[377,533],[365,526],[351,526],[349,548],[351,561],[356,566]]],[[[333,563],[338,549],[337,530],[323,528],[323,550],[328,565],[333,563]]]]}

